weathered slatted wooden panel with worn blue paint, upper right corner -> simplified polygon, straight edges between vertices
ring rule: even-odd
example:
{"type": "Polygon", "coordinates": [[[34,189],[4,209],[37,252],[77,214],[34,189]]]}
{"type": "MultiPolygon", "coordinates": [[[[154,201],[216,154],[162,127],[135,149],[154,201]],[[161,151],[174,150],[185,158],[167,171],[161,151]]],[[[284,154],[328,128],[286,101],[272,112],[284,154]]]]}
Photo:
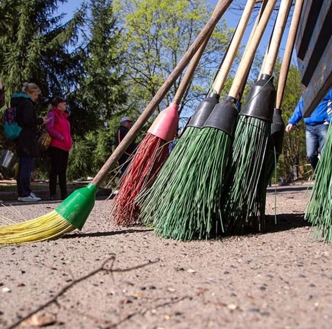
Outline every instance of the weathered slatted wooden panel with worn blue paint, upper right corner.
{"type": "Polygon", "coordinates": [[[332,0],[305,0],[296,36],[303,92],[309,116],[332,86],[332,0]]]}

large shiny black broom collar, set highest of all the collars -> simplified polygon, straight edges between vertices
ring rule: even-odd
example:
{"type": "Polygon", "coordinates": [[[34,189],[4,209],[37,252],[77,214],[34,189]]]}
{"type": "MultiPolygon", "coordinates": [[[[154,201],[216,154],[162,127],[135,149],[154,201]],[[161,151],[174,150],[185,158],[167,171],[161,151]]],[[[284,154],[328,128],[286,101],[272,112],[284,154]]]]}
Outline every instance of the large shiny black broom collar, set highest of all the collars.
{"type": "Polygon", "coordinates": [[[252,116],[272,123],[276,94],[273,77],[262,74],[251,87],[240,115],[252,116]]]}

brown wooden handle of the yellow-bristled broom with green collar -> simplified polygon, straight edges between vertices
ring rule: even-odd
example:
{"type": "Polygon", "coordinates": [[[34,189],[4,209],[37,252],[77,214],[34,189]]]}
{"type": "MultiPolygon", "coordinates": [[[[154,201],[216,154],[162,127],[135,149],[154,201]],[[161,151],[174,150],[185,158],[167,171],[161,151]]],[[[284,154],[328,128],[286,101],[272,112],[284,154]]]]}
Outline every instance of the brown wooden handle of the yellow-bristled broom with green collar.
{"type": "Polygon", "coordinates": [[[144,123],[148,120],[148,118],[151,116],[153,111],[155,110],[156,106],[161,102],[161,100],[165,97],[167,91],[170,89],[170,87],[173,85],[173,83],[176,81],[176,79],[179,77],[181,72],[184,70],[184,68],[188,65],[190,60],[193,58],[194,54],[198,51],[199,47],[202,45],[204,40],[206,39],[206,36],[213,30],[223,13],[226,11],[228,6],[231,4],[232,0],[218,0],[218,3],[216,5],[215,13],[212,14],[210,19],[208,20],[207,24],[204,26],[203,30],[200,32],[200,34],[197,36],[195,41],[192,43],[192,45],[189,47],[189,49],[186,51],[180,62],[177,64],[175,69],[172,71],[172,73],[169,75],[169,77],[166,79],[166,81],[162,84],[162,86],[159,88],[157,93],[154,95],[154,97],[151,99],[150,103],[147,105],[145,110],[142,112],[142,114],[138,117],[134,125],[131,127],[131,129],[128,131],[128,133],[124,136],[124,139],[120,142],[120,144],[117,146],[117,148],[114,150],[114,152],[111,154],[111,156],[107,159],[107,161],[104,163],[102,168],[99,170],[95,178],[92,180],[92,184],[96,187],[102,182],[104,177],[106,176],[108,170],[116,164],[116,162],[119,160],[119,158],[122,156],[124,151],[127,149],[129,144],[133,141],[139,130],[143,127],[144,123]]]}

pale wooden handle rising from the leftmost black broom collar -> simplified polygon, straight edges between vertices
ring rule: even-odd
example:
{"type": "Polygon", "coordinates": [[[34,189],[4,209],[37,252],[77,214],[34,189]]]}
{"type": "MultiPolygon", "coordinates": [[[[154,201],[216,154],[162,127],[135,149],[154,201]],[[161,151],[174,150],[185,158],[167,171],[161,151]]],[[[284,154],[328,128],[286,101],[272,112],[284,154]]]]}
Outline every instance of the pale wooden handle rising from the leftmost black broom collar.
{"type": "Polygon", "coordinates": [[[243,13],[242,16],[240,18],[239,24],[234,32],[234,36],[232,38],[232,41],[229,45],[229,49],[227,51],[227,54],[225,56],[225,59],[219,69],[218,75],[216,77],[216,79],[214,80],[213,83],[213,90],[220,95],[220,92],[222,90],[222,88],[225,85],[225,81],[227,79],[229,70],[232,66],[232,63],[234,61],[236,52],[239,48],[241,39],[243,37],[244,31],[247,27],[250,15],[252,10],[254,9],[254,5],[256,3],[256,0],[248,0],[244,9],[243,9],[243,13]]]}

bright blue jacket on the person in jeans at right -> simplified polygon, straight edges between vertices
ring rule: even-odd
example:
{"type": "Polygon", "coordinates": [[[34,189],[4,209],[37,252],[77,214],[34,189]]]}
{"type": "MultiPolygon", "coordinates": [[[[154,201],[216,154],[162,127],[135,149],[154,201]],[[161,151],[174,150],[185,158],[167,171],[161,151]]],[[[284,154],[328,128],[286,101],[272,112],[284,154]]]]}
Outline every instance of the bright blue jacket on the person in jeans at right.
{"type": "MultiPolygon", "coordinates": [[[[303,115],[303,99],[302,97],[298,101],[293,114],[290,116],[288,123],[295,125],[298,123],[303,115]]],[[[330,123],[332,114],[332,89],[325,95],[323,100],[319,103],[316,109],[307,118],[304,118],[306,126],[316,126],[325,122],[330,123]]]]}

